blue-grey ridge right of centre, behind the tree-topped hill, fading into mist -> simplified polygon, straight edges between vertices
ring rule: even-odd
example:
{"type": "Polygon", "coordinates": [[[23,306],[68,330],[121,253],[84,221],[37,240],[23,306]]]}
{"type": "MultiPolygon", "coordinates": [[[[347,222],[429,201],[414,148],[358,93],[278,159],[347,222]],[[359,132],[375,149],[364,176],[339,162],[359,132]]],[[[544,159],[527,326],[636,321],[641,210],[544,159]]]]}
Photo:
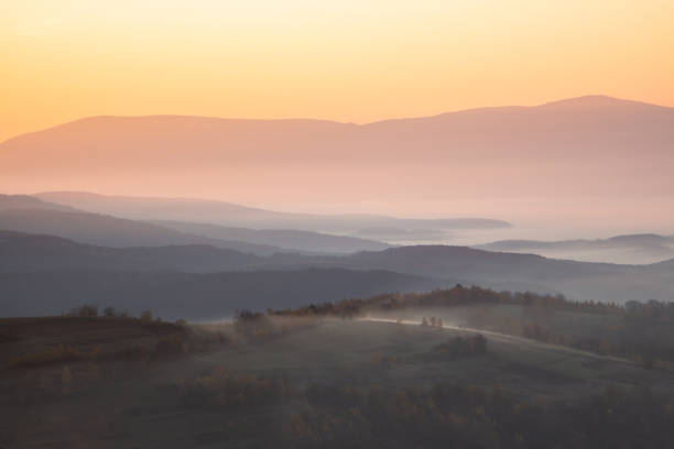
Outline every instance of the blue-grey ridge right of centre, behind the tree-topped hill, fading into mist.
{"type": "Polygon", "coordinates": [[[564,294],[579,300],[670,302],[674,297],[674,271],[663,270],[665,264],[588,263],[446,245],[401,247],[344,258],[276,254],[270,260],[282,266],[308,264],[349,270],[387,270],[496,289],[564,294]]]}

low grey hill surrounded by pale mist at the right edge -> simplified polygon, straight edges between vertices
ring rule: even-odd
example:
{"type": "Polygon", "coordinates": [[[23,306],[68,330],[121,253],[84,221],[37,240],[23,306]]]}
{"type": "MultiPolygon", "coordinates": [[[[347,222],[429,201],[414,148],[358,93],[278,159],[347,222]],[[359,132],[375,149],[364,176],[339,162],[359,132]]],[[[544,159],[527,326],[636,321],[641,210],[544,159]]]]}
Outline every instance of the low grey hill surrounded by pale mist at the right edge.
{"type": "Polygon", "coordinates": [[[631,234],[597,240],[501,240],[475,248],[585,262],[654,263],[674,258],[674,236],[631,234]]]}

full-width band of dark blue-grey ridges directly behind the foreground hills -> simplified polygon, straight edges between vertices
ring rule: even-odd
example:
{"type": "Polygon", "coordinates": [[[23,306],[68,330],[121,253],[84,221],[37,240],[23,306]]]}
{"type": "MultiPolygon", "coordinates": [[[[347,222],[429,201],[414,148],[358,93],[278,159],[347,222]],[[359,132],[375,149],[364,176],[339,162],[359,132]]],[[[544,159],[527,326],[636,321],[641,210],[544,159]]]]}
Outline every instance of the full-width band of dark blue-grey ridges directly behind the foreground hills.
{"type": "Polygon", "coordinates": [[[667,261],[616,265],[558,261],[465,247],[403,247],[341,256],[261,258],[204,245],[111,249],[0,233],[2,315],[44,315],[76,304],[141,308],[197,318],[241,307],[289,307],[460,282],[497,289],[563,293],[574,299],[670,300],[667,261]]]}

